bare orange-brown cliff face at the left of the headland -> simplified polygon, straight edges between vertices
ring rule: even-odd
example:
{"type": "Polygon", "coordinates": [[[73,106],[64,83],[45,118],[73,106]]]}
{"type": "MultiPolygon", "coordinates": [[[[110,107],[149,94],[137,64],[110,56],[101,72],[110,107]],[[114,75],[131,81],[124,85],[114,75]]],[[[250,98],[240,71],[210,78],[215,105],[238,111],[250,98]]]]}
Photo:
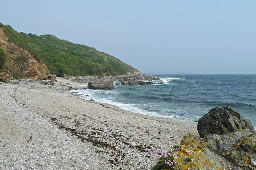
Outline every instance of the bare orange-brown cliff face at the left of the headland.
{"type": "Polygon", "coordinates": [[[47,79],[50,71],[43,61],[31,55],[27,50],[18,47],[13,42],[8,41],[8,37],[4,34],[3,28],[0,27],[0,48],[8,56],[5,68],[9,72],[14,72],[26,78],[47,79]]]}

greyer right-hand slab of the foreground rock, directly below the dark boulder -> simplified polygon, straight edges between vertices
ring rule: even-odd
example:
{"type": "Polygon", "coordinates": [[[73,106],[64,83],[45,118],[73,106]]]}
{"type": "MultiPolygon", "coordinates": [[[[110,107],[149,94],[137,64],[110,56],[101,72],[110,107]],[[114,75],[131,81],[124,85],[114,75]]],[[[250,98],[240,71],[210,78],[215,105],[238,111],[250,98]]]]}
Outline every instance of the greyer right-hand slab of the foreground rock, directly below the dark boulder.
{"type": "Polygon", "coordinates": [[[256,131],[243,129],[205,138],[207,147],[242,169],[256,169],[256,131]]]}

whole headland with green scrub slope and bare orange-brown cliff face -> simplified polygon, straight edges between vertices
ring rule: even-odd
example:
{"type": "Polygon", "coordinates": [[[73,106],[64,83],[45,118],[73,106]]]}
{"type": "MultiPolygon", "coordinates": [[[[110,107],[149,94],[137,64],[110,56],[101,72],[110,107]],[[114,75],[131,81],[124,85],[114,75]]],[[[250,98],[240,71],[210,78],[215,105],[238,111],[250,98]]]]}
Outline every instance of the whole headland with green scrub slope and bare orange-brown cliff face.
{"type": "Polygon", "coordinates": [[[1,23],[0,28],[0,48],[3,48],[10,58],[6,65],[9,64],[9,67],[21,75],[34,76],[36,72],[62,77],[141,73],[118,58],[87,45],[61,40],[53,35],[19,33],[11,26],[1,23]],[[33,69],[28,68],[32,66],[33,69]]]}

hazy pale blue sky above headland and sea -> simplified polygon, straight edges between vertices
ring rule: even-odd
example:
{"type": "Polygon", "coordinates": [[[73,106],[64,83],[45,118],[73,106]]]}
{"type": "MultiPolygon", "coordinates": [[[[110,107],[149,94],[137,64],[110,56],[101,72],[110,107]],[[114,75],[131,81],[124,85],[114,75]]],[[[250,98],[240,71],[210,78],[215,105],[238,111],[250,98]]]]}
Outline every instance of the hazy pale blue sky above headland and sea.
{"type": "Polygon", "coordinates": [[[0,22],[95,47],[142,72],[256,74],[255,0],[8,0],[0,22]]]}

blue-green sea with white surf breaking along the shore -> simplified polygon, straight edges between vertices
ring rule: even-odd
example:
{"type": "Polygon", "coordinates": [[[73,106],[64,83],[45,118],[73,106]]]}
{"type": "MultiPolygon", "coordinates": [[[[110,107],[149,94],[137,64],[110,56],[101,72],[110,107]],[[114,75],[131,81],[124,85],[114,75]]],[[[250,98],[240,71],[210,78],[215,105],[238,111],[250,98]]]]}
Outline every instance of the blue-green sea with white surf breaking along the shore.
{"type": "Polygon", "coordinates": [[[231,106],[256,127],[256,75],[153,75],[164,84],[115,85],[114,90],[79,89],[83,99],[127,111],[198,121],[209,109],[231,106]]]}

